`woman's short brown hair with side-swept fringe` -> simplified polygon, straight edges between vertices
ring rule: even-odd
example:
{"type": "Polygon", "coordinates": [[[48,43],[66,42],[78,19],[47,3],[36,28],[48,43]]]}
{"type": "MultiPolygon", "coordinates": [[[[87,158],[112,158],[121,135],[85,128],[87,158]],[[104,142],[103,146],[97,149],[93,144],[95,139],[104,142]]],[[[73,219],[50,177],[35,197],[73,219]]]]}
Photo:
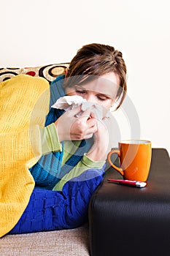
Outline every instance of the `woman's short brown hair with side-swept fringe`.
{"type": "Polygon", "coordinates": [[[108,72],[115,72],[120,80],[120,89],[117,91],[117,97],[121,96],[117,106],[119,108],[127,91],[127,70],[122,53],[112,46],[98,43],[82,46],[70,62],[67,78],[71,79],[65,86],[72,87],[74,84],[87,83],[88,80],[94,80],[96,76],[105,75],[108,72]]]}

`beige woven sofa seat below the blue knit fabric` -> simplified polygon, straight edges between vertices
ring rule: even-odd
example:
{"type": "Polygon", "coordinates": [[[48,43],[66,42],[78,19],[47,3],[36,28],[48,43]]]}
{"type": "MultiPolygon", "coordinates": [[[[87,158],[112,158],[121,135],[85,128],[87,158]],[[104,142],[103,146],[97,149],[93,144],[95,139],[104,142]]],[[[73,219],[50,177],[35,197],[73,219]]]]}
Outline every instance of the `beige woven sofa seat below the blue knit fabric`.
{"type": "Polygon", "coordinates": [[[7,235],[0,239],[1,256],[89,256],[88,225],[73,230],[7,235]]]}

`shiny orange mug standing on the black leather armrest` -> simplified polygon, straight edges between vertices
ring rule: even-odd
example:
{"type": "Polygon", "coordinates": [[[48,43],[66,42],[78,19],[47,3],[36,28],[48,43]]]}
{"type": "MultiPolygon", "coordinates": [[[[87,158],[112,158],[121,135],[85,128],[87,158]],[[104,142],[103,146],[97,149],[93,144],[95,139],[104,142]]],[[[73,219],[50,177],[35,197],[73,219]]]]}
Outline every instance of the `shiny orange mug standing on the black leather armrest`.
{"type": "Polygon", "coordinates": [[[122,140],[118,150],[109,152],[109,164],[117,170],[124,179],[131,181],[147,181],[152,157],[152,144],[149,140],[122,140]],[[112,154],[117,154],[120,167],[112,163],[112,154]]]}

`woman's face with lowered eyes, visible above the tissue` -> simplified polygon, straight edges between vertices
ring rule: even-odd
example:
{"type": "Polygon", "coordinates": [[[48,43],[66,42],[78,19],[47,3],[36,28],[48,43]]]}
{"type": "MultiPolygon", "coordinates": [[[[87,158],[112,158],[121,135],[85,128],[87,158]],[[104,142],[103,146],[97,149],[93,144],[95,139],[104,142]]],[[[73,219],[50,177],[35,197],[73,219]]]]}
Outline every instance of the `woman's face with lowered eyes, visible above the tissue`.
{"type": "Polygon", "coordinates": [[[116,101],[119,86],[120,80],[117,75],[114,72],[109,72],[81,86],[67,87],[66,95],[79,95],[88,102],[97,103],[109,109],[116,101]]]}

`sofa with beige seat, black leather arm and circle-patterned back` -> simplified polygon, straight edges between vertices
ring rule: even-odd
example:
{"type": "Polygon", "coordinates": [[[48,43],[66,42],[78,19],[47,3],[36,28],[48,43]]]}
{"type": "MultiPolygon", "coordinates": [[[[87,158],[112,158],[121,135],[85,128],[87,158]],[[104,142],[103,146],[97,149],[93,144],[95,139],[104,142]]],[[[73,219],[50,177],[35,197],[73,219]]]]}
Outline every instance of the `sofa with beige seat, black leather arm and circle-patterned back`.
{"type": "MultiPolygon", "coordinates": [[[[41,76],[49,81],[62,75],[69,63],[40,67],[0,68],[0,82],[15,75],[41,76]]],[[[115,159],[116,165],[119,165],[115,159]]],[[[147,187],[109,184],[122,178],[107,166],[104,181],[93,193],[88,222],[68,230],[24,233],[0,238],[3,256],[170,255],[170,159],[165,148],[152,148],[147,187]]]]}

